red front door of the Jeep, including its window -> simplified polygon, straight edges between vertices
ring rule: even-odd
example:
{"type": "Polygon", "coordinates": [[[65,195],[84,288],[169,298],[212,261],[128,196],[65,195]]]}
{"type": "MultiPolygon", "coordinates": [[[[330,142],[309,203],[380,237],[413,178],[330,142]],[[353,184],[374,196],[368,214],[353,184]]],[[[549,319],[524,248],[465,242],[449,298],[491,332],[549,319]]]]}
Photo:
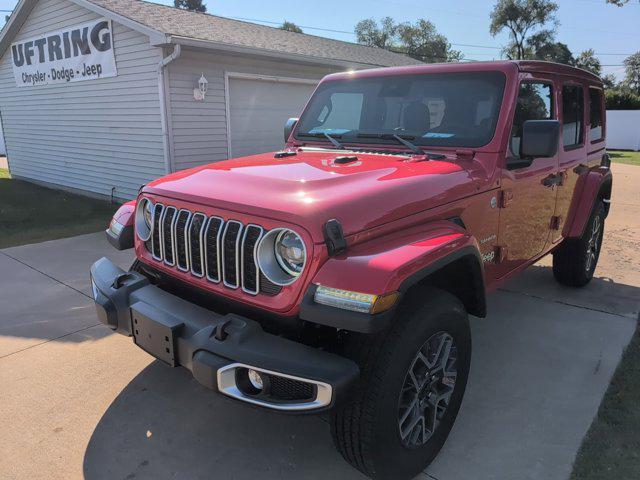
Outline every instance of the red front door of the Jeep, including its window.
{"type": "Polygon", "coordinates": [[[502,170],[497,277],[541,254],[549,241],[558,156],[522,158],[520,144],[526,120],[557,119],[557,101],[551,77],[523,74],[502,170]]]}

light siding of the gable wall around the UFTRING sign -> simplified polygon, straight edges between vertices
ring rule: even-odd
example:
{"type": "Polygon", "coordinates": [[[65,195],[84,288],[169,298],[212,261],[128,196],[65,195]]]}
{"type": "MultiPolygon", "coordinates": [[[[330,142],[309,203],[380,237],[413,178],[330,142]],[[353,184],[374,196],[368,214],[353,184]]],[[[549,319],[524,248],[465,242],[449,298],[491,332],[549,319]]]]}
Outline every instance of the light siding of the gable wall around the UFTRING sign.
{"type": "MultiPolygon", "coordinates": [[[[40,0],[14,41],[99,18],[66,0],[40,0]]],[[[114,22],[118,76],[15,85],[0,59],[0,113],[15,176],[119,198],[164,174],[157,65],[149,39],[114,22]]]]}

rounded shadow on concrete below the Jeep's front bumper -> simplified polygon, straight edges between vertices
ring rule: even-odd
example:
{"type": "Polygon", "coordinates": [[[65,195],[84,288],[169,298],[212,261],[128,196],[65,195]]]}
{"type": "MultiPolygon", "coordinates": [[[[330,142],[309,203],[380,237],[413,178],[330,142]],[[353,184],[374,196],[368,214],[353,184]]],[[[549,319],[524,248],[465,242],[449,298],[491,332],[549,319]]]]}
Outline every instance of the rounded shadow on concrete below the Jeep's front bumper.
{"type": "Polygon", "coordinates": [[[159,361],[109,406],[83,468],[88,480],[365,478],[334,450],[326,419],[239,404],[159,361]]]}

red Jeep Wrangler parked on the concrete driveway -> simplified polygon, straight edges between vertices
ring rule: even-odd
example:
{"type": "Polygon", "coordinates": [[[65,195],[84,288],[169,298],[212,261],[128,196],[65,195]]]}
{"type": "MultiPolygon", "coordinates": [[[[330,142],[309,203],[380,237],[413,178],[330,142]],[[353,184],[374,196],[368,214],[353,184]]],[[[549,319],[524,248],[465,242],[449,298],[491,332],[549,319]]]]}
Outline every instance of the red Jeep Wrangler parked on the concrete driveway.
{"type": "Polygon", "coordinates": [[[140,190],[91,268],[98,316],[202,385],[330,411],[336,447],[409,478],[462,402],[486,293],[548,253],[593,276],[612,176],[601,81],[545,62],[326,77],[282,151],[140,190]]]}

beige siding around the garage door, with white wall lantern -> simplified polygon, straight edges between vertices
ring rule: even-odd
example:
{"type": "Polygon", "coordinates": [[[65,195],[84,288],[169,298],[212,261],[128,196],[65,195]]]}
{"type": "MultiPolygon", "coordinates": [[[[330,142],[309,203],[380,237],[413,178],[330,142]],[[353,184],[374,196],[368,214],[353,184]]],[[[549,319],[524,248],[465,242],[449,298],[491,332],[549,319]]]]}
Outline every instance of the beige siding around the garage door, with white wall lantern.
{"type": "Polygon", "coordinates": [[[227,158],[225,71],[320,80],[337,70],[339,69],[259,57],[183,49],[181,57],[169,65],[174,170],[227,158]],[[193,99],[193,89],[202,73],[209,85],[205,101],[198,102],[193,99]]]}

